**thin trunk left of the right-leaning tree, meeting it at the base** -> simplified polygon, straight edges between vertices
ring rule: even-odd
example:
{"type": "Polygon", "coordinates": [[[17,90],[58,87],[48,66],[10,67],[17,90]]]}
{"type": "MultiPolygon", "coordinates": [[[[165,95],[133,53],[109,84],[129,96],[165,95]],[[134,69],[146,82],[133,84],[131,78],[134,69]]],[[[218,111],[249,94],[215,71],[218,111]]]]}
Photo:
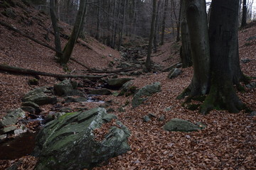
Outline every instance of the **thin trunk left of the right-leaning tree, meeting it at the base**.
{"type": "MultiPolygon", "coordinates": [[[[55,0],[50,0],[50,18],[53,23],[53,31],[54,31],[54,42],[56,50],[61,52],[61,45],[60,45],[60,30],[58,28],[58,21],[55,13],[55,0]]],[[[57,57],[61,57],[62,54],[60,52],[56,52],[57,57]]]]}

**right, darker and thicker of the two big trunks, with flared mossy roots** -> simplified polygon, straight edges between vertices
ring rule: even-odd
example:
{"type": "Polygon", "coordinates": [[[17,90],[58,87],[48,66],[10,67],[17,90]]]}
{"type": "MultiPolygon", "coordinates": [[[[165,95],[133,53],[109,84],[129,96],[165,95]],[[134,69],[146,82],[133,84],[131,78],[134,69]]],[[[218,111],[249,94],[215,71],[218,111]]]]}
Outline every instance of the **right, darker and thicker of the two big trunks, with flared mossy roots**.
{"type": "Polygon", "coordinates": [[[244,106],[233,87],[235,74],[240,72],[238,6],[238,0],[212,2],[209,29],[212,81],[209,95],[201,108],[203,114],[213,108],[238,113],[244,106]]]}

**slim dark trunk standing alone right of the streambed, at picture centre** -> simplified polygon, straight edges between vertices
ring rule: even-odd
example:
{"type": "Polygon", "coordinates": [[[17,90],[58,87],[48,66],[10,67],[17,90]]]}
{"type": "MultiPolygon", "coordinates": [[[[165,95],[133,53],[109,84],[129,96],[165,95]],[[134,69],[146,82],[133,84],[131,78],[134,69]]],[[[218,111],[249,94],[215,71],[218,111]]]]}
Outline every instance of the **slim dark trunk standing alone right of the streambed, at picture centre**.
{"type": "Polygon", "coordinates": [[[151,52],[152,52],[152,43],[153,43],[153,38],[154,38],[154,23],[156,21],[156,0],[153,0],[153,13],[152,13],[152,18],[151,18],[151,30],[150,30],[150,35],[149,35],[149,47],[148,47],[148,52],[146,55],[146,63],[145,67],[147,71],[151,70],[151,52]]]}

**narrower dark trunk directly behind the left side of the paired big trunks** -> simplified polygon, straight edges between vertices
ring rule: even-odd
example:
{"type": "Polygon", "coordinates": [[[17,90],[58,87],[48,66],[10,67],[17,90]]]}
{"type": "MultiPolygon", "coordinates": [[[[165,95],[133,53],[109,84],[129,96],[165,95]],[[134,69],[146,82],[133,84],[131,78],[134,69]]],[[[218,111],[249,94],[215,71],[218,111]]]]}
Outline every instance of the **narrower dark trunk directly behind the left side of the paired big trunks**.
{"type": "Polygon", "coordinates": [[[181,62],[182,67],[192,66],[191,41],[188,34],[188,23],[186,19],[186,0],[181,0],[181,62]]]}

